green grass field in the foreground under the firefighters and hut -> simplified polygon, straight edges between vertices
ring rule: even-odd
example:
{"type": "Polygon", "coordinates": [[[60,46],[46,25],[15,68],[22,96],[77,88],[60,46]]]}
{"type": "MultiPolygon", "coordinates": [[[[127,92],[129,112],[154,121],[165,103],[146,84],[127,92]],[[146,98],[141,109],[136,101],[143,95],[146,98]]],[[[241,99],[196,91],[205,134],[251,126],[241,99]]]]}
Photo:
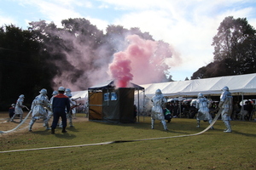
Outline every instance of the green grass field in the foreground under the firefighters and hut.
{"type": "MultiPolygon", "coordinates": [[[[150,129],[150,117],[131,124],[74,125],[67,127],[68,133],[56,129],[50,134],[42,127],[32,133],[0,134],[0,150],[172,137],[199,133],[208,126],[201,122],[196,128],[195,119],[173,118],[166,132],[160,122],[150,129]]],[[[224,133],[224,123],[218,120],[214,130],[190,137],[0,153],[0,169],[256,169],[256,122],[232,121],[231,126],[233,132],[224,133]]]]}

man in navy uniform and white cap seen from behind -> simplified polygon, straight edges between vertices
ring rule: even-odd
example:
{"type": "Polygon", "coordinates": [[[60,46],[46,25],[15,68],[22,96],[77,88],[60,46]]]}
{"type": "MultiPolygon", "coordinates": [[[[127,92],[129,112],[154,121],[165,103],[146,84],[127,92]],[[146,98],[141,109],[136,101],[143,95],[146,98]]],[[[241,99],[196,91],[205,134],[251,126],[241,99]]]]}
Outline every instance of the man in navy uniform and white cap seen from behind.
{"type": "Polygon", "coordinates": [[[67,133],[66,127],[67,127],[67,112],[70,111],[70,102],[67,95],[64,95],[65,88],[60,87],[58,89],[57,95],[55,95],[53,101],[52,101],[52,111],[53,111],[53,122],[51,125],[51,133],[55,133],[55,128],[58,124],[58,121],[61,117],[62,122],[62,133],[67,133]],[[67,112],[66,112],[67,111],[67,112]]]}

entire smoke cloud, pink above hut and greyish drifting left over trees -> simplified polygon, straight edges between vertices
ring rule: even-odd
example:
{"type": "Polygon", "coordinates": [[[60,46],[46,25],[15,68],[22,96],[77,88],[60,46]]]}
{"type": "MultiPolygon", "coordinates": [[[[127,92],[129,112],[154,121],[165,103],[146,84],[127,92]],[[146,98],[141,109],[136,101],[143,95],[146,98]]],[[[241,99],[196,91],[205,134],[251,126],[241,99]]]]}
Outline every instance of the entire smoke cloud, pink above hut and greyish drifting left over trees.
{"type": "Polygon", "coordinates": [[[41,26],[50,37],[46,45],[50,62],[55,63],[51,68],[56,72],[54,89],[63,86],[72,91],[85,90],[109,79],[114,79],[119,88],[130,82],[166,82],[171,66],[181,61],[172,46],[154,41],[148,33],[140,33],[139,37],[119,26],[109,26],[104,35],[88,20],[63,23],[64,29],[49,26],[47,30],[44,23],[41,26]]]}

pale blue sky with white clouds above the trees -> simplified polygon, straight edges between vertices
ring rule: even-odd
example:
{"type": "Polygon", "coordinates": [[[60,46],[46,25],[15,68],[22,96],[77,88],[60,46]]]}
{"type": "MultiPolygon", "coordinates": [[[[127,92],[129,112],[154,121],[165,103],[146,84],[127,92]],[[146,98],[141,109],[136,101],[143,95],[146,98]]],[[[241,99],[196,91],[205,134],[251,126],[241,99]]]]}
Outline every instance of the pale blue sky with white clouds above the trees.
{"type": "Polygon", "coordinates": [[[85,18],[104,31],[108,25],[139,27],[170,43],[183,62],[174,63],[175,81],[191,77],[213,59],[212,37],[227,16],[247,18],[256,28],[255,0],[0,0],[0,26],[27,29],[30,21],[85,18]]]}

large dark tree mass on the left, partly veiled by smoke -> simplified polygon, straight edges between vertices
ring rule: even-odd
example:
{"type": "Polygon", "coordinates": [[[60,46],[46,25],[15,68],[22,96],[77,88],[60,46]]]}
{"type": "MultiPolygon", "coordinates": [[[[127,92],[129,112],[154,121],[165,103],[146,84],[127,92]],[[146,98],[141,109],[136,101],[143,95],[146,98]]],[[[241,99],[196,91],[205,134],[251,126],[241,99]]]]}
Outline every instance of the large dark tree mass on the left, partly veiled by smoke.
{"type": "Polygon", "coordinates": [[[27,30],[14,25],[0,27],[0,111],[7,111],[20,94],[25,95],[25,105],[31,105],[42,88],[50,96],[63,79],[80,90],[94,85],[86,73],[102,69],[100,62],[108,68],[127,35],[154,41],[137,27],[110,25],[103,33],[81,18],[62,20],[61,25],[58,28],[53,22],[39,20],[29,23],[27,30]],[[79,84],[79,78],[83,83],[79,84]]]}

